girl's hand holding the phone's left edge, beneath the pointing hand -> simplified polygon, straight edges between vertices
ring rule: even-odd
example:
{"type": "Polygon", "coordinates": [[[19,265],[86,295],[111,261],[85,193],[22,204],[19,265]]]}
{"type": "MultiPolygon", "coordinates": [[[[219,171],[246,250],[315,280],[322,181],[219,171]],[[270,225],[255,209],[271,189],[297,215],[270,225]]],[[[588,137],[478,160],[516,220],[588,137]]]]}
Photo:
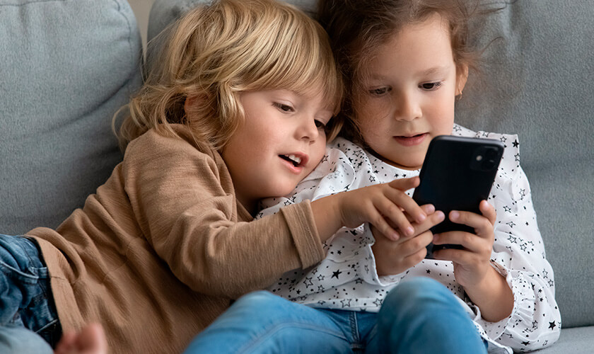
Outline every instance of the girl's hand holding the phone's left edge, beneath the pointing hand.
{"type": "Polygon", "coordinates": [[[378,275],[395,275],[404,272],[427,255],[426,246],[433,241],[433,233],[429,229],[439,224],[445,218],[443,212],[435,212],[433,205],[422,205],[421,209],[427,215],[423,222],[412,222],[414,234],[392,241],[378,229],[371,226],[375,244],[371,246],[375,257],[375,268],[378,275]]]}

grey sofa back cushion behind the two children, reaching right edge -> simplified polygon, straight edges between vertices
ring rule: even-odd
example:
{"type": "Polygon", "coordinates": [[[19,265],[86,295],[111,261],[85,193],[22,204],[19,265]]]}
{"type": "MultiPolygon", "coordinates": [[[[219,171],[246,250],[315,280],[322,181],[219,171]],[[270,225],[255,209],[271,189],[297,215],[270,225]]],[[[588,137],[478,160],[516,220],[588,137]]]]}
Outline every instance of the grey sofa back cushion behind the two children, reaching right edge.
{"type": "MultiPolygon", "coordinates": [[[[456,120],[519,135],[563,326],[594,325],[594,6],[482,1],[503,9],[474,24],[476,44],[486,47],[483,73],[470,77],[456,120]]],[[[148,38],[204,2],[156,0],[148,38]]],[[[315,0],[289,2],[315,9],[315,0]]]]}

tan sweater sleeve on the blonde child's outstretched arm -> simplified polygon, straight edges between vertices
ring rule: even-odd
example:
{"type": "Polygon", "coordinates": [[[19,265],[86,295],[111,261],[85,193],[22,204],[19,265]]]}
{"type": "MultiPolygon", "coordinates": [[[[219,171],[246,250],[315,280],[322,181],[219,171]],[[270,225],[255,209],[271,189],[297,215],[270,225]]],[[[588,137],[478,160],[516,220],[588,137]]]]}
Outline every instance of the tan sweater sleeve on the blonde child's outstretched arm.
{"type": "Polygon", "coordinates": [[[124,156],[134,215],[158,256],[192,290],[235,298],[323,258],[309,202],[253,222],[245,210],[238,217],[231,177],[216,152],[155,132],[136,140],[124,156]]]}

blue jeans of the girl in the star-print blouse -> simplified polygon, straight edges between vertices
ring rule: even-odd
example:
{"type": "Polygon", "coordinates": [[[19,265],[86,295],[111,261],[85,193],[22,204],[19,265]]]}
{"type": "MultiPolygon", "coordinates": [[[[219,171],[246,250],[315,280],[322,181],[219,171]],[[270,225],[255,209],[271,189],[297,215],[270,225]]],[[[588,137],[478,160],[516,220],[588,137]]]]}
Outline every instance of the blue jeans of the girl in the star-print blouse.
{"type": "Polygon", "coordinates": [[[238,299],[185,351],[198,353],[487,353],[455,295],[436,280],[402,282],[379,313],[315,309],[269,292],[238,299]]]}

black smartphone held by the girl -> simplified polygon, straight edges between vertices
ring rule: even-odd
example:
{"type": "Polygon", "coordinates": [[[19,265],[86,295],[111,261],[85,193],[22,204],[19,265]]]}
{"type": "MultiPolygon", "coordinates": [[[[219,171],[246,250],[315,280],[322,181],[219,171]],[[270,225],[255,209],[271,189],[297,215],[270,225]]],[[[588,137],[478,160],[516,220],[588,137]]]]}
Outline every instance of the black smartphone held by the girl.
{"type": "MultiPolygon", "coordinates": [[[[487,200],[495,179],[503,143],[494,139],[440,135],[429,143],[421,167],[421,183],[412,198],[419,205],[433,204],[445,214],[445,220],[431,228],[433,234],[454,230],[474,233],[474,229],[450,222],[451,210],[465,210],[480,214],[479,203],[487,200]]],[[[426,258],[433,251],[458,248],[460,245],[427,246],[426,258]]]]}

